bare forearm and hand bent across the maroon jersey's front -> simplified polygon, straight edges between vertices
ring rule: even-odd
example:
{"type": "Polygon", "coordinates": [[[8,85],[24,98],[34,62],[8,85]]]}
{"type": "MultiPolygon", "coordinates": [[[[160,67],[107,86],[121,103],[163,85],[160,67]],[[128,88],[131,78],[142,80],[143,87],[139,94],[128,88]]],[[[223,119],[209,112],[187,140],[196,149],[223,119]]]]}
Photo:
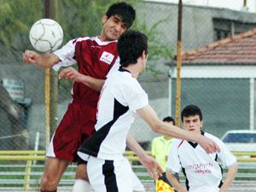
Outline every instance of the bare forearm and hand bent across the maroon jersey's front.
{"type": "Polygon", "coordinates": [[[79,73],[73,67],[67,67],[61,71],[59,74],[59,79],[65,77],[66,80],[72,79],[76,82],[80,82],[90,87],[92,90],[101,91],[105,79],[95,79],[88,75],[79,73]]]}

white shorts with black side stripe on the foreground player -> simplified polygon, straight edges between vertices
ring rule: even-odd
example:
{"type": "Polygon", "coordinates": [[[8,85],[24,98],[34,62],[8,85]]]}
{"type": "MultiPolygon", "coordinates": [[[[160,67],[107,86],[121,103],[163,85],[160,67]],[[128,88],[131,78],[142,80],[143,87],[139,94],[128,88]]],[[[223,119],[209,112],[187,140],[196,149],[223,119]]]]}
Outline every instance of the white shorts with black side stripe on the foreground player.
{"type": "Polygon", "coordinates": [[[127,159],[102,160],[90,156],[87,164],[90,185],[95,192],[144,191],[127,159]]]}

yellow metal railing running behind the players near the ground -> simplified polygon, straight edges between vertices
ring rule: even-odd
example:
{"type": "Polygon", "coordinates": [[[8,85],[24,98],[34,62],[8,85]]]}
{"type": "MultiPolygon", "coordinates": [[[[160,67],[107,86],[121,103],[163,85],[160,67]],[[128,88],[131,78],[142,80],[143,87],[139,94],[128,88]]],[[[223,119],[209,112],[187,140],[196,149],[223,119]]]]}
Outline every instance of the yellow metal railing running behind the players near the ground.
{"type": "MultiPolygon", "coordinates": [[[[149,151],[147,153],[151,154],[149,151]]],[[[256,152],[234,152],[233,154],[236,155],[239,163],[239,172],[236,174],[234,183],[239,186],[246,181],[251,187],[254,186],[256,183],[256,152]]],[[[154,181],[148,177],[146,169],[138,163],[136,154],[126,151],[125,156],[131,161],[137,176],[144,184],[148,184],[148,189],[154,189],[154,181]]],[[[45,151],[0,151],[0,190],[15,187],[24,191],[38,191],[40,177],[44,172],[44,160],[45,151]]],[[[67,171],[61,178],[62,187],[73,185],[75,170],[76,164],[67,167],[67,171]]],[[[184,182],[183,176],[181,176],[181,181],[184,182]]]]}

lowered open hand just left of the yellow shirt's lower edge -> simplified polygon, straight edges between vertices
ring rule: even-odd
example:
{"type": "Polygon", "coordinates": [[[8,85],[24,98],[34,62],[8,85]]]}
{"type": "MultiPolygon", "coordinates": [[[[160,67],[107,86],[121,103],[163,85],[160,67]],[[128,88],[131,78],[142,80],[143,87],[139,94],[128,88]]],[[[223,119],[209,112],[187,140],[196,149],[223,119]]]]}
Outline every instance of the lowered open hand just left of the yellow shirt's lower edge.
{"type": "Polygon", "coordinates": [[[143,158],[140,158],[139,160],[143,164],[143,166],[146,167],[150,177],[158,179],[159,177],[162,176],[162,173],[164,171],[161,168],[161,166],[156,162],[156,160],[154,160],[153,157],[147,154],[143,158]]]}

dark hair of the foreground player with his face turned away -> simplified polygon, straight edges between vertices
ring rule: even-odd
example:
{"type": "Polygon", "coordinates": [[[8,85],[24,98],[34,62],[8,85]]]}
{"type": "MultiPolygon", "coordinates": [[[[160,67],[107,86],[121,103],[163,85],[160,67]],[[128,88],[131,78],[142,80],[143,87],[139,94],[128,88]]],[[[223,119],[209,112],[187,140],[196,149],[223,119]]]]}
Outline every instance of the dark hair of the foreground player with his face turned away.
{"type": "Polygon", "coordinates": [[[148,54],[148,37],[143,32],[128,30],[120,36],[117,49],[120,65],[127,67],[131,63],[137,63],[143,51],[148,54]]]}

